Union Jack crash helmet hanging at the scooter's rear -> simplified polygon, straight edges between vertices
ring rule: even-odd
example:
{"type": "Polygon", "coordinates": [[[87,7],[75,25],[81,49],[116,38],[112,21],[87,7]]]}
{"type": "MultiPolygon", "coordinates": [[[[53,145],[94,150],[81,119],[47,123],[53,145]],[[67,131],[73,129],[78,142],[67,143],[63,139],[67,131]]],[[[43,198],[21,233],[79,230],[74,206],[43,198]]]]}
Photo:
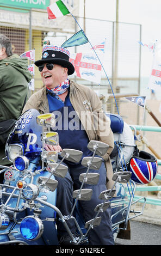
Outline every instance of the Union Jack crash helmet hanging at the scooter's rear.
{"type": "Polygon", "coordinates": [[[132,172],[131,179],[139,185],[151,182],[157,175],[157,169],[156,158],[145,151],[140,151],[129,161],[129,172],[132,172]]]}

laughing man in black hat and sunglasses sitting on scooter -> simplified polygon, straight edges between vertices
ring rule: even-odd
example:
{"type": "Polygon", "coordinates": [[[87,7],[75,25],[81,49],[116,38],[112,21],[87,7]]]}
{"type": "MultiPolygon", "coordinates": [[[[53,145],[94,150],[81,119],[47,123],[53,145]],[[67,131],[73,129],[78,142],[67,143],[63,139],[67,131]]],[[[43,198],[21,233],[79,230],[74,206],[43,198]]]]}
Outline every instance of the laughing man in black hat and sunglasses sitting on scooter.
{"type": "MultiPolygon", "coordinates": [[[[109,149],[103,156],[102,166],[97,171],[100,179],[97,185],[85,184],[83,188],[92,188],[90,201],[79,201],[82,208],[84,221],[95,217],[94,209],[103,200],[98,199],[100,193],[107,190],[107,180],[113,175],[109,154],[114,147],[113,132],[110,129],[110,121],[103,114],[101,101],[96,93],[89,87],[70,81],[68,75],[75,72],[75,68],[69,62],[70,52],[63,47],[45,45],[42,49],[42,58],[37,60],[44,87],[34,93],[23,112],[35,108],[40,114],[54,113],[56,125],[54,131],[59,134],[59,145],[45,145],[46,150],[60,152],[64,148],[77,149],[83,152],[83,156],[91,156],[92,152],[87,148],[89,141],[96,140],[107,143],[109,149]],[[108,179],[107,179],[108,177],[108,179]]],[[[72,192],[81,186],[79,175],[86,172],[86,167],[79,163],[65,161],[69,168],[65,178],[58,178],[57,207],[65,216],[70,215],[73,206],[72,192]]],[[[93,170],[96,172],[95,170],[93,170]]],[[[92,172],[92,170],[90,170],[92,172]]],[[[108,187],[109,188],[109,187],[108,187]]],[[[108,208],[100,214],[101,224],[90,229],[88,240],[90,245],[114,245],[111,210],[108,208]]],[[[67,221],[73,234],[76,227],[71,220],[67,221]]],[[[70,237],[62,223],[57,223],[60,244],[70,244],[70,237]]]]}

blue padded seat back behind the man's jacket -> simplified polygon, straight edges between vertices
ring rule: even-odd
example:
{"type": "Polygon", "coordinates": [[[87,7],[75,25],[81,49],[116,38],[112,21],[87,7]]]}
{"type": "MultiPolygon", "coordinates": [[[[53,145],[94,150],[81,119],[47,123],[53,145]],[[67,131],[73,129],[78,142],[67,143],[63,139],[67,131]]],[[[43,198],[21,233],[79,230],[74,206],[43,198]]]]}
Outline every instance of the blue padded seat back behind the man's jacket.
{"type": "Polygon", "coordinates": [[[122,119],[122,117],[118,114],[108,114],[108,113],[105,113],[105,114],[111,120],[110,127],[111,127],[113,133],[122,133],[122,131],[123,131],[123,119],[122,119]]]}

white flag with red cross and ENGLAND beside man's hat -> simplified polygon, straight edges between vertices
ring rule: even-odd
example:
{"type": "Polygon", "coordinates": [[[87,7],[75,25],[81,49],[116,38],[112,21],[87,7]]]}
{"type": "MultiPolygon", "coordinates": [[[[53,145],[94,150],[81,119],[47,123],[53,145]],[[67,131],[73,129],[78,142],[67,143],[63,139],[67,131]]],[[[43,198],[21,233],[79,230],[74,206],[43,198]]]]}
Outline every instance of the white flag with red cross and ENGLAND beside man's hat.
{"type": "Polygon", "coordinates": [[[94,53],[71,53],[70,62],[75,66],[76,75],[91,82],[101,82],[101,64],[94,53]]]}

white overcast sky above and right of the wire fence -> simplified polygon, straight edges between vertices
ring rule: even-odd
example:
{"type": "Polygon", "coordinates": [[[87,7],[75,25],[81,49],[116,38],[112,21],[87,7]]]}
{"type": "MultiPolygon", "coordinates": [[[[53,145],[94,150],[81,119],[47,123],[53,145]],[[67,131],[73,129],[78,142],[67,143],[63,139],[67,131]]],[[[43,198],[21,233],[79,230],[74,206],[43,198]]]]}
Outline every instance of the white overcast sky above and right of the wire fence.
{"type": "MultiPolygon", "coordinates": [[[[83,3],[80,0],[80,16],[83,16],[83,3]]],[[[161,39],[161,0],[119,0],[119,22],[141,25],[141,41],[151,44],[161,39]]],[[[86,0],[85,16],[88,18],[116,21],[116,0],[86,0]]],[[[128,36],[128,35],[127,35],[128,36]]],[[[141,76],[151,74],[153,53],[141,48],[141,76]]]]}

